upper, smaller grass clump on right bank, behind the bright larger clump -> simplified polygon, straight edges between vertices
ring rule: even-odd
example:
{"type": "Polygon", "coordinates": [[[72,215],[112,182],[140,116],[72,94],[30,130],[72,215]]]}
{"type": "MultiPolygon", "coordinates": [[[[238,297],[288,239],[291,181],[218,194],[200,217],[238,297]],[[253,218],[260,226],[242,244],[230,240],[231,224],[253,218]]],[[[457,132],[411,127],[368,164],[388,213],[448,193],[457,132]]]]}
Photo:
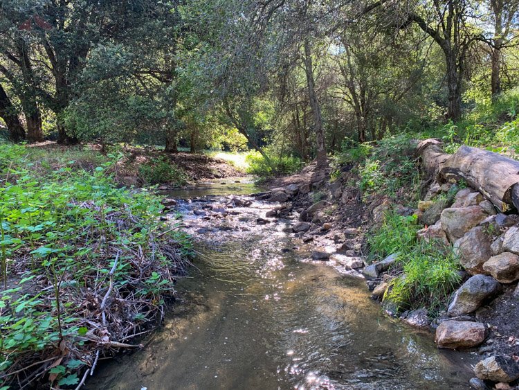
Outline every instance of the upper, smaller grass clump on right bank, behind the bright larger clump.
{"type": "Polygon", "coordinates": [[[416,215],[403,217],[394,211],[385,213],[381,227],[367,237],[370,260],[408,251],[420,229],[416,215]]]}

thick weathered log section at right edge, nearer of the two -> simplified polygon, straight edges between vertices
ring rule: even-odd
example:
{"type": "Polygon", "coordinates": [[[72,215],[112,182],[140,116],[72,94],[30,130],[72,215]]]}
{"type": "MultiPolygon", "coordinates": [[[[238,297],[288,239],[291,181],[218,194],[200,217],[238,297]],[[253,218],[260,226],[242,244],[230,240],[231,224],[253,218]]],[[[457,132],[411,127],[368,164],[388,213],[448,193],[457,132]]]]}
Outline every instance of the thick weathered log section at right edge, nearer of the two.
{"type": "Polygon", "coordinates": [[[512,206],[519,210],[519,161],[462,146],[440,164],[438,178],[439,181],[464,179],[500,211],[508,211],[512,206]]]}

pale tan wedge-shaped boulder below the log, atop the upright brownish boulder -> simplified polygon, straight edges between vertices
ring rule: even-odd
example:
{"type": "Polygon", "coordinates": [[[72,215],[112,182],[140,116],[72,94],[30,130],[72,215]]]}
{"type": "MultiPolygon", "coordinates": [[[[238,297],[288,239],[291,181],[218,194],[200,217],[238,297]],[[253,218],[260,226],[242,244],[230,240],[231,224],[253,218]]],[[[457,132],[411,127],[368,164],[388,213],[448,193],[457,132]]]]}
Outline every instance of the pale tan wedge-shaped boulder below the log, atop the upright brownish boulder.
{"type": "Polygon", "coordinates": [[[487,216],[480,206],[451,207],[441,212],[441,229],[447,233],[450,242],[454,242],[487,216]]]}

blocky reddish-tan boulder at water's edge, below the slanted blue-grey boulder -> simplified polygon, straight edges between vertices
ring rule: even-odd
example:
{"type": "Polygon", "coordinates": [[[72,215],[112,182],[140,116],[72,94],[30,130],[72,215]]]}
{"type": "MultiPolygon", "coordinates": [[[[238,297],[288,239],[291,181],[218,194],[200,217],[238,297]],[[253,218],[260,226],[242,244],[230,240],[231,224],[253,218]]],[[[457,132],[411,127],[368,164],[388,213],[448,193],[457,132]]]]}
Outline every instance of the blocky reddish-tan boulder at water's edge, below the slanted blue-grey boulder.
{"type": "Polygon", "coordinates": [[[480,322],[444,321],[436,328],[438,348],[471,348],[485,339],[485,326],[480,322]]]}

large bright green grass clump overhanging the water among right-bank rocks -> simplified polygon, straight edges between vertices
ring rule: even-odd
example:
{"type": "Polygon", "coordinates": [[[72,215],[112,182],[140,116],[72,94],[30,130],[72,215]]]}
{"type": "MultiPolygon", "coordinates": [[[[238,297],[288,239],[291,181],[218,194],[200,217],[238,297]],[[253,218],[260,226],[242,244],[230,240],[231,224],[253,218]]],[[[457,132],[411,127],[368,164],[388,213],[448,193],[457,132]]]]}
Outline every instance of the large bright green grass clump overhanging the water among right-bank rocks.
{"type": "Polygon", "coordinates": [[[462,277],[452,248],[421,242],[400,252],[403,274],[390,281],[383,300],[397,311],[426,307],[432,315],[443,310],[462,277]]]}

